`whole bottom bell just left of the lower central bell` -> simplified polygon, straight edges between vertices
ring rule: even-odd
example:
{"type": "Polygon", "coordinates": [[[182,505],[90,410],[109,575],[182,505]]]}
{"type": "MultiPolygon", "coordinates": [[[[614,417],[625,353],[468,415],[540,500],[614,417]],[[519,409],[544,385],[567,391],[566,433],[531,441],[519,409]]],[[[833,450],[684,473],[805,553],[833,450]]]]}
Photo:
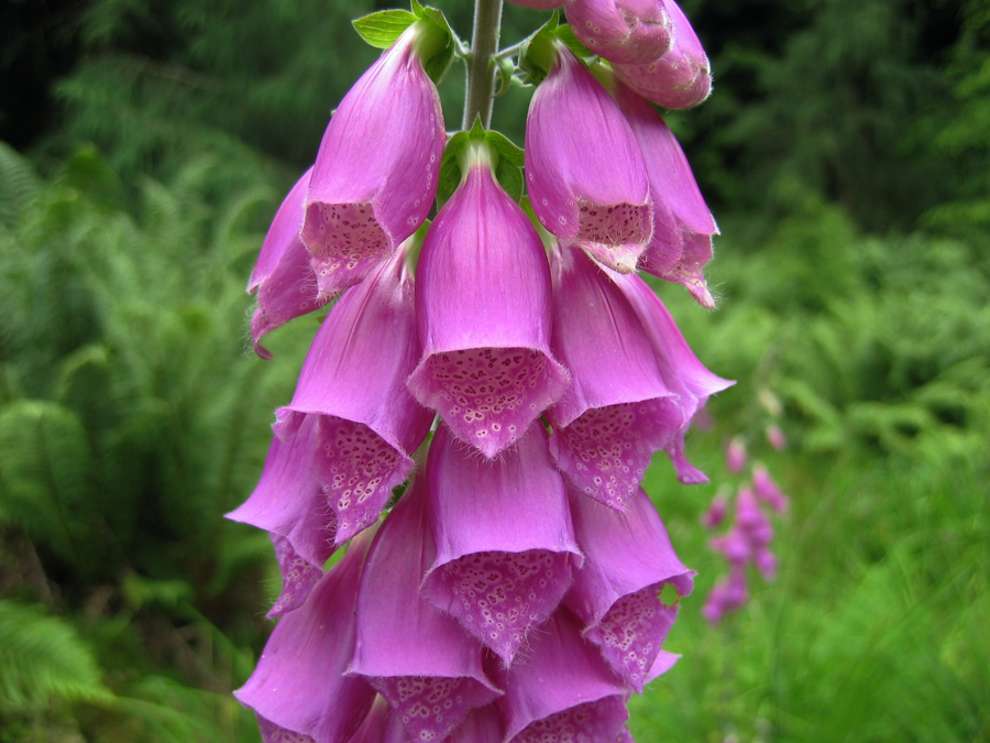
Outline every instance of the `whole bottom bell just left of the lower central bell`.
{"type": "Polygon", "coordinates": [[[482,646],[419,594],[433,565],[426,478],[419,477],[378,531],[358,599],[351,674],[393,707],[409,737],[441,741],[499,696],[482,669],[482,646]]]}

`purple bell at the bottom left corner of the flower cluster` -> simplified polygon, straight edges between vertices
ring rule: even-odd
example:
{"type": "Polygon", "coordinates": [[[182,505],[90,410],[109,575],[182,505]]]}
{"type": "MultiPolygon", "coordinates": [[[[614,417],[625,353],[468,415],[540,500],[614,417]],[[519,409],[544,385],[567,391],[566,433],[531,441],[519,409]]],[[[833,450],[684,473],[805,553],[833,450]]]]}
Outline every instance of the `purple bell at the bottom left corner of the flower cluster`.
{"type": "Polygon", "coordinates": [[[287,734],[296,733],[317,743],[345,743],[371,708],[372,688],[344,675],[354,652],[358,586],[370,543],[371,533],[355,539],[306,603],[282,618],[251,678],[234,691],[265,720],[267,740],[293,741],[287,734]]]}

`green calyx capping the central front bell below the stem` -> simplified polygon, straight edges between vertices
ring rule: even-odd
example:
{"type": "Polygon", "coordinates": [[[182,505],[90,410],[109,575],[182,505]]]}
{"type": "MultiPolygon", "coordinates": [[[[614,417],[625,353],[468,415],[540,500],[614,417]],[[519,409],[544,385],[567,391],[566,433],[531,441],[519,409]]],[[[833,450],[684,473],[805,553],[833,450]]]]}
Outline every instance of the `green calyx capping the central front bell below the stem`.
{"type": "Polygon", "coordinates": [[[475,119],[470,131],[458,132],[447,143],[440,161],[437,205],[442,207],[458,189],[471,168],[486,165],[495,179],[516,201],[522,197],[522,150],[505,134],[486,131],[475,119]]]}

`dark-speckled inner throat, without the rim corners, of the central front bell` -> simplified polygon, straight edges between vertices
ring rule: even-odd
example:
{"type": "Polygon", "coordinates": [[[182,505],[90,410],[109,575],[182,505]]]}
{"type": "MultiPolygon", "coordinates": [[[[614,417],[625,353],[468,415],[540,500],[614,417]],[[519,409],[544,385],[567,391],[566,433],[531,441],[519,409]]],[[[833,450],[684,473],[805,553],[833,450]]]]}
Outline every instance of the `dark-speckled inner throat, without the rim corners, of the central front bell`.
{"type": "Polygon", "coordinates": [[[547,357],[526,348],[476,348],[435,353],[429,360],[440,415],[459,438],[516,440],[546,407],[547,357]]]}

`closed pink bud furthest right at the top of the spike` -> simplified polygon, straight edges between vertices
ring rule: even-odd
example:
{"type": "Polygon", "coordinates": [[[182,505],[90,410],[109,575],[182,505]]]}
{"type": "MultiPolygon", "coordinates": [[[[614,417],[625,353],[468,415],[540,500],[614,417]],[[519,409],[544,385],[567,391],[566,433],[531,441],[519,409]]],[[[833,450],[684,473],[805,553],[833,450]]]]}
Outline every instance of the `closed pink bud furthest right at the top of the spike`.
{"type": "Polygon", "coordinates": [[[712,92],[712,66],[697,34],[674,0],[663,0],[670,14],[673,46],[642,65],[614,65],[632,90],[663,108],[691,108],[712,92]]]}

